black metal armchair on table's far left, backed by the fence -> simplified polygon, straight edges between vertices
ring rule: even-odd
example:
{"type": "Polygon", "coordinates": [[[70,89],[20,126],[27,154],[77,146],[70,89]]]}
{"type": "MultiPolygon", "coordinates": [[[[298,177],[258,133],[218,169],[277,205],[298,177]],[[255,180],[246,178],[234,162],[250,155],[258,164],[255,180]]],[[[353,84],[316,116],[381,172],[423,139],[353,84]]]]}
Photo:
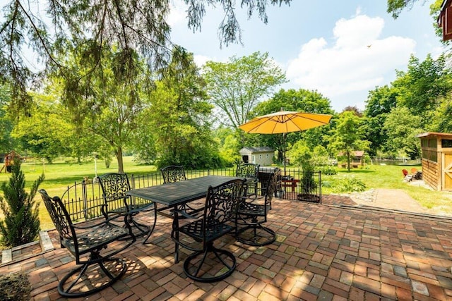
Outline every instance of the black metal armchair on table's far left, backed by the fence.
{"type": "Polygon", "coordinates": [[[126,215],[132,226],[134,235],[141,237],[145,235],[143,244],[146,243],[153,233],[155,223],[157,222],[157,206],[154,202],[146,199],[140,199],[126,195],[131,190],[129,178],[126,173],[105,173],[99,177],[100,187],[102,188],[102,197],[107,205],[105,207],[107,215],[121,214],[126,215]],[[154,221],[152,226],[138,223],[134,217],[142,211],[154,211],[154,221]]]}

